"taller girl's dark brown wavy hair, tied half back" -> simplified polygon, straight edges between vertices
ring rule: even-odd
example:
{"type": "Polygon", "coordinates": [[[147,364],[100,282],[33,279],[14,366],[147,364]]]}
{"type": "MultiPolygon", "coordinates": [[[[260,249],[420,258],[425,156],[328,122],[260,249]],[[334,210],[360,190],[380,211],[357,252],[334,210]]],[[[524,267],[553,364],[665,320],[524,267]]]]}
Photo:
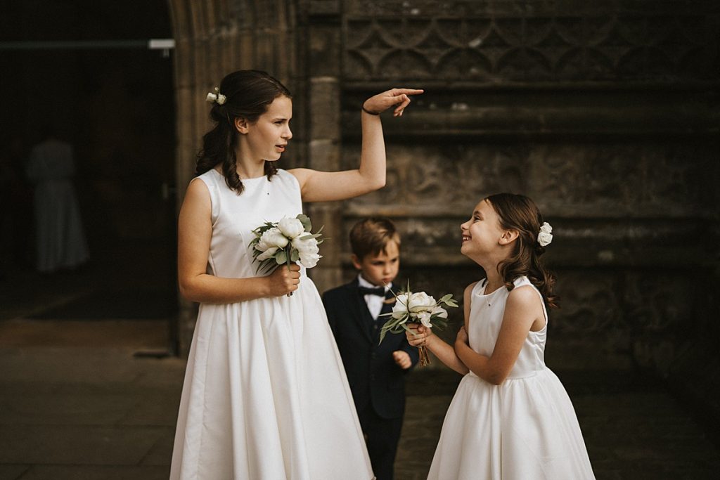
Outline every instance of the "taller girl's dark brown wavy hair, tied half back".
{"type": "MultiPolygon", "coordinates": [[[[292,98],[290,91],[276,78],[258,70],[239,70],[228,74],[220,82],[219,93],[225,103],[213,102],[210,118],[215,127],[202,137],[202,150],[197,154],[195,174],[202,175],[220,163],[225,183],[230,189],[243,193],[243,182],[237,171],[235,149],[238,147],[238,130],[235,119],[257,122],[268,106],[279,96],[292,98]]],[[[277,173],[274,162],[265,162],[265,175],[277,173]]]]}

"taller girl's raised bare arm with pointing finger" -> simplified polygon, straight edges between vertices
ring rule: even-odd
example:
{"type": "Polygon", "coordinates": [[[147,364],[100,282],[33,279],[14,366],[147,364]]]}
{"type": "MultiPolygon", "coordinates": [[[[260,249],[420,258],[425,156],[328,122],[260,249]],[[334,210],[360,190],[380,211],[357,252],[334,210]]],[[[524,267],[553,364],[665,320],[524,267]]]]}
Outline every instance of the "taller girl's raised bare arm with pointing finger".
{"type": "Polygon", "coordinates": [[[366,194],[385,185],[385,142],[380,113],[395,106],[394,117],[401,117],[416,89],[392,89],[370,97],[361,112],[362,150],[355,170],[323,172],[310,168],[290,170],[300,183],[303,201],[344,200],[366,194]]]}

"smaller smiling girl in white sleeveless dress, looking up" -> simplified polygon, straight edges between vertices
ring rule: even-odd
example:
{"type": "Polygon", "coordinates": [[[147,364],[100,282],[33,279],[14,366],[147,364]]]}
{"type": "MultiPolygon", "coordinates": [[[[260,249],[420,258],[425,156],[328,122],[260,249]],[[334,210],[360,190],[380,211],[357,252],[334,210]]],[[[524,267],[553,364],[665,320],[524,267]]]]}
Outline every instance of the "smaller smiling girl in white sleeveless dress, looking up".
{"type": "Polygon", "coordinates": [[[539,256],[552,227],[528,197],[497,194],[460,228],[460,251],[487,275],[465,289],[465,325],[454,345],[424,327],[408,332],[464,374],[428,479],[594,479],[570,398],[544,362],[546,306],[557,298],[539,256]]]}

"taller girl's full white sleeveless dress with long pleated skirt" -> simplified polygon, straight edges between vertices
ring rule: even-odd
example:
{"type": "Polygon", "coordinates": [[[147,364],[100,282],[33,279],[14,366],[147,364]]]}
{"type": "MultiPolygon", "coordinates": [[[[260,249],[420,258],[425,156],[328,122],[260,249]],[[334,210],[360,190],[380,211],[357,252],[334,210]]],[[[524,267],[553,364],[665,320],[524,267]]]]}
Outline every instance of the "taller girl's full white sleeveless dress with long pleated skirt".
{"type": "MultiPolygon", "coordinates": [[[[251,230],[302,213],[297,179],[283,170],[245,179],[238,195],[214,169],[198,178],[212,201],[207,272],[257,276],[251,230]]],[[[304,270],[292,296],[200,304],[170,478],[373,478],[325,309],[304,270]]]]}

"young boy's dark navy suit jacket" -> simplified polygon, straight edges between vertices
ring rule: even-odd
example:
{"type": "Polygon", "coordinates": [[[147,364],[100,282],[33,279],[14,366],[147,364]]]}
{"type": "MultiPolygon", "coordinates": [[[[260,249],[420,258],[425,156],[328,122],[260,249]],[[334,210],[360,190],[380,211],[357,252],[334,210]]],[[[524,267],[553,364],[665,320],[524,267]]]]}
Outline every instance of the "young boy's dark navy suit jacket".
{"type": "Polygon", "coordinates": [[[407,352],[415,366],[418,349],[410,346],[404,332],[388,333],[379,343],[379,328],[373,333],[373,318],[358,290],[357,279],[326,291],[323,304],[357,411],[362,412],[368,404],[372,404],[380,417],[402,417],[405,411],[405,374],[410,368],[403,370],[397,366],[392,352],[407,352]]]}

